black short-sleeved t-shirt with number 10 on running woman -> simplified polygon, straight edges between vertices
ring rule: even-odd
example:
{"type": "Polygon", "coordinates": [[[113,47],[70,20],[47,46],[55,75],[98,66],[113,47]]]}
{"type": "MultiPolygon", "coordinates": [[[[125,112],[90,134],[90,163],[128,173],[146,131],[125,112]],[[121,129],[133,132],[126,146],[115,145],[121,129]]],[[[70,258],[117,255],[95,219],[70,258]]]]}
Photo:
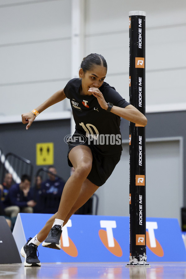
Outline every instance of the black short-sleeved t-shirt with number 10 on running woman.
{"type": "MultiPolygon", "coordinates": [[[[90,148],[100,155],[113,156],[120,154],[122,151],[119,128],[121,118],[101,108],[97,98],[93,95],[80,95],[80,86],[81,80],[73,78],[64,88],[64,94],[70,99],[73,118],[76,123],[75,132],[86,136],[86,142],[90,144],[90,148]]],[[[121,108],[130,104],[122,98],[114,87],[106,82],[100,86],[99,90],[107,103],[112,103],[114,106],[121,108]]]]}

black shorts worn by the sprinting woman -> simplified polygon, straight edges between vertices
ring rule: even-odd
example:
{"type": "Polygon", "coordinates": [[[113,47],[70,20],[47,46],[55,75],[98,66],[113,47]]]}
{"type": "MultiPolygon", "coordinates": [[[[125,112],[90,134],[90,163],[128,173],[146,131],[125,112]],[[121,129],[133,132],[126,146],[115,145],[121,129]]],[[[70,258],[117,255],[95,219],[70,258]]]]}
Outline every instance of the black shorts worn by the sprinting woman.
{"type": "MultiPolygon", "coordinates": [[[[91,146],[84,143],[83,145],[88,146],[91,149],[91,146]]],[[[68,151],[68,164],[72,167],[72,163],[69,160],[69,152],[70,150],[75,147],[74,145],[69,145],[68,151]]],[[[87,176],[87,179],[90,180],[93,184],[97,186],[102,186],[108,179],[108,177],[112,174],[115,166],[120,161],[121,154],[117,156],[102,156],[95,153],[92,149],[92,168],[87,176]]]]}

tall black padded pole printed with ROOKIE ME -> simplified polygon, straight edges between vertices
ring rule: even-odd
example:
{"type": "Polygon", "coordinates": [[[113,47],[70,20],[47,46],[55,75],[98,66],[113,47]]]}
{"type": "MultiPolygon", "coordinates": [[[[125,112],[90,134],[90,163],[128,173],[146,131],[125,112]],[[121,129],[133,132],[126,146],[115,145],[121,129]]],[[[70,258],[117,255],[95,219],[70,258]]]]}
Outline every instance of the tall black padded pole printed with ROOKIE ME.
{"type": "MultiPolygon", "coordinates": [[[[145,114],[145,12],[129,12],[130,103],[145,114]]],[[[149,266],[146,256],[145,127],[130,122],[130,258],[128,266],[149,266]]]]}

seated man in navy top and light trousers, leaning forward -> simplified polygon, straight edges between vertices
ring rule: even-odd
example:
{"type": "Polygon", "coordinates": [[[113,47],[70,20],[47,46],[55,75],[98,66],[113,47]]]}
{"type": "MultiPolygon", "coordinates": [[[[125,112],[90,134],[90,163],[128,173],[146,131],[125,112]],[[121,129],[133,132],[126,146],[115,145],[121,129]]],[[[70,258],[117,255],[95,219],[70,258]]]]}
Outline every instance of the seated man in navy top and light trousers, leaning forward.
{"type": "Polygon", "coordinates": [[[18,213],[33,213],[33,207],[36,202],[31,199],[30,177],[22,175],[21,183],[11,186],[9,192],[3,201],[4,211],[7,216],[17,217],[18,213]]]}

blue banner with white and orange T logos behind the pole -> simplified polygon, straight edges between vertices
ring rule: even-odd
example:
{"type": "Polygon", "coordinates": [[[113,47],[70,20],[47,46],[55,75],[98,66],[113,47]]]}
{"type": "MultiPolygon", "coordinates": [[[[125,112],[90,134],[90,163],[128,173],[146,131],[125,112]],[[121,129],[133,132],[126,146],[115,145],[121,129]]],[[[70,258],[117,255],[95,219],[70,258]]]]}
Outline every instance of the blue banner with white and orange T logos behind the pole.
{"type": "MultiPolygon", "coordinates": [[[[34,237],[51,216],[21,213],[13,232],[15,242],[23,233],[26,240],[34,237]]],[[[186,261],[177,219],[147,218],[146,228],[148,262],[186,261]]],[[[143,241],[136,235],[136,245],[143,241]]],[[[42,245],[38,250],[41,262],[129,262],[129,217],[73,215],[63,228],[61,250],[42,245]]]]}

